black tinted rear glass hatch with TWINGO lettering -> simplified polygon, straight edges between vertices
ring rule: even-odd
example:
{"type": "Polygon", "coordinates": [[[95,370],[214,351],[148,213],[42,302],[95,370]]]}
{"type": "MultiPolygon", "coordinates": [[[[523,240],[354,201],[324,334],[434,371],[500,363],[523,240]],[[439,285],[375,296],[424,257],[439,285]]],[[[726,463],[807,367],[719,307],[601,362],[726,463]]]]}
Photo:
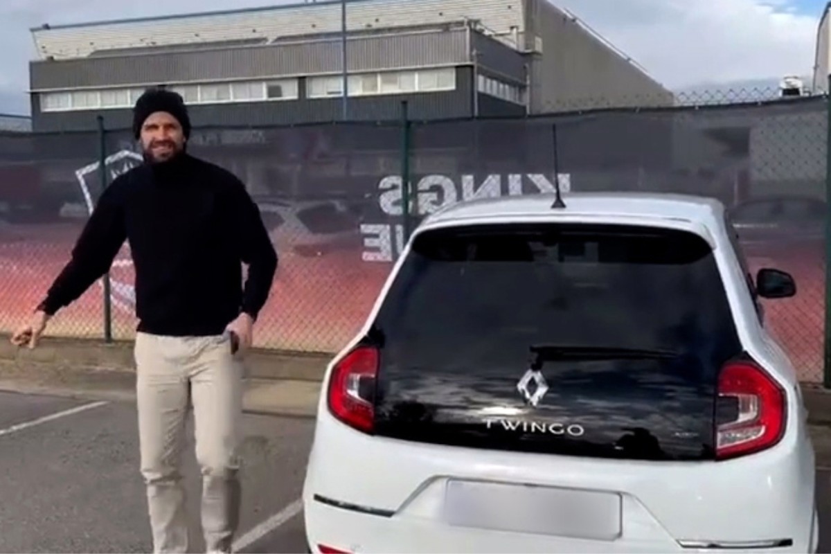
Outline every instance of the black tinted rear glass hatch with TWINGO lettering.
{"type": "Polygon", "coordinates": [[[600,458],[712,459],[718,370],[740,354],[707,243],[621,226],[425,233],[368,338],[377,434],[600,458]]]}

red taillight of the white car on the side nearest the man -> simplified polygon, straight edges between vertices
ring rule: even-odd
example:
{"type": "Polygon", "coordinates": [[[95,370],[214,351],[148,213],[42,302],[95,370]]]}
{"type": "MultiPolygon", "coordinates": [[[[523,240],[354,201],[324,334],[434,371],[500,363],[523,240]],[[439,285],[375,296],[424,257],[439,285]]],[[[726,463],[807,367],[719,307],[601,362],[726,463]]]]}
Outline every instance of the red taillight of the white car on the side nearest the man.
{"type": "Polygon", "coordinates": [[[358,346],[338,361],[327,395],[332,414],[353,429],[371,433],[377,375],[378,350],[372,346],[358,346]]]}

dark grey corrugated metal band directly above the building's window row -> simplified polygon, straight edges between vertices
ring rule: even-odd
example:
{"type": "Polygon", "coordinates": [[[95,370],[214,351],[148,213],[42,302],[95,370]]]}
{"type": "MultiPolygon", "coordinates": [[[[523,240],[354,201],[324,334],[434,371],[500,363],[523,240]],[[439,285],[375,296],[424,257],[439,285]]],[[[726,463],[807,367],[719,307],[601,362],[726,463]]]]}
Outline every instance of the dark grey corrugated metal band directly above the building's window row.
{"type": "MultiPolygon", "coordinates": [[[[470,63],[467,31],[358,37],[347,43],[349,71],[470,63]]],[[[498,45],[499,46],[499,45],[498,45]]],[[[506,51],[507,47],[502,46],[506,51]]],[[[223,50],[33,61],[33,91],[186,81],[308,76],[341,71],[339,41],[223,50]]]]}

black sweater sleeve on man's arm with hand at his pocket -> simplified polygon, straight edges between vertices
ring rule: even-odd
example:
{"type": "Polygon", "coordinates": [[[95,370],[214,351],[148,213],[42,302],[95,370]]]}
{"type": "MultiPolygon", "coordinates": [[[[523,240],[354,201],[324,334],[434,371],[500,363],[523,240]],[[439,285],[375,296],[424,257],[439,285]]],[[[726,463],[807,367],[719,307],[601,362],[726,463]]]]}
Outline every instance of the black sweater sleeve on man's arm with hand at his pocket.
{"type": "Polygon", "coordinates": [[[245,185],[236,180],[232,189],[234,192],[231,204],[234,209],[238,248],[243,263],[248,265],[248,278],[243,287],[242,311],[256,320],[271,292],[278,256],[263,224],[259,208],[248,194],[245,185]]]}

